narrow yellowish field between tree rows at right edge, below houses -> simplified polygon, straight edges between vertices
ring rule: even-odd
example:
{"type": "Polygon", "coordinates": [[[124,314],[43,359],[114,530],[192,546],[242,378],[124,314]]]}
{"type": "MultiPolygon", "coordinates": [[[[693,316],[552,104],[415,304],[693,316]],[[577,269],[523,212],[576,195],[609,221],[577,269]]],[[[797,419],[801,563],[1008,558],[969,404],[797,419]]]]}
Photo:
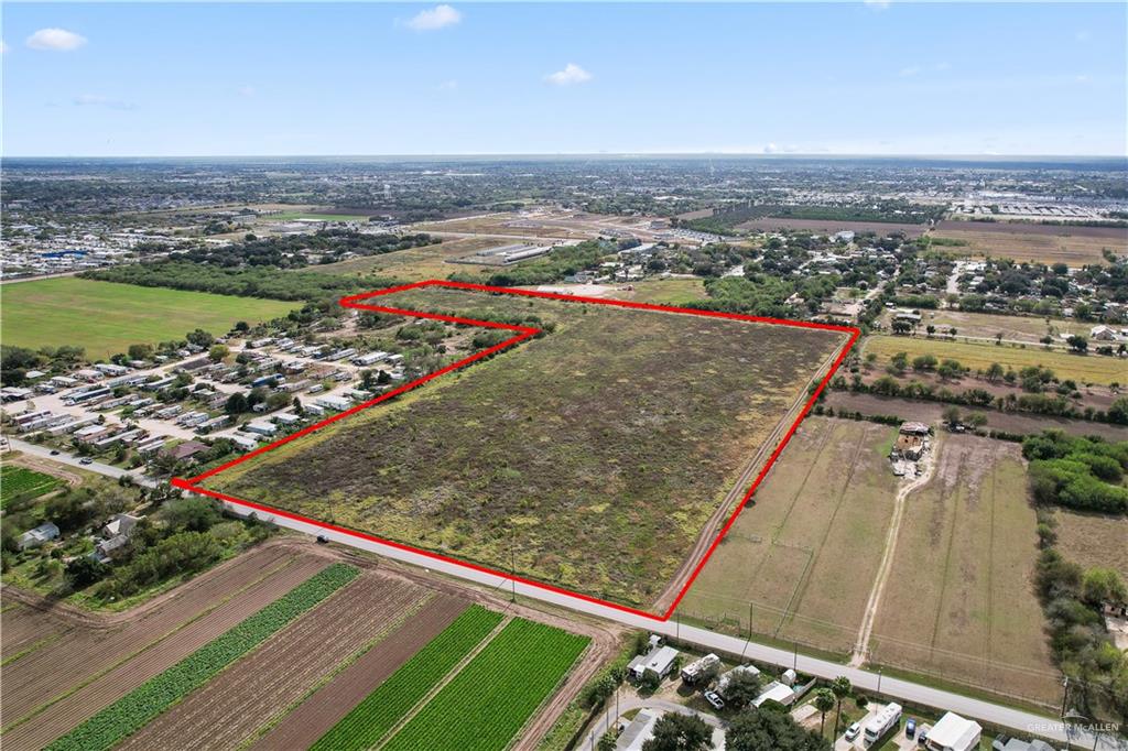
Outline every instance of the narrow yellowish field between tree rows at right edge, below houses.
{"type": "Polygon", "coordinates": [[[958,360],[972,372],[987,370],[997,362],[1003,368],[1019,371],[1031,365],[1049,368],[1061,380],[1072,379],[1077,383],[1095,383],[1109,386],[1123,383],[1125,361],[1098,354],[1075,354],[1060,350],[1047,351],[1040,346],[1022,347],[1019,345],[995,345],[967,342],[950,342],[942,338],[925,338],[909,336],[869,336],[862,342],[862,354],[878,355],[878,365],[884,368],[890,357],[898,352],[908,353],[909,361],[923,354],[935,355],[940,360],[958,360]]]}

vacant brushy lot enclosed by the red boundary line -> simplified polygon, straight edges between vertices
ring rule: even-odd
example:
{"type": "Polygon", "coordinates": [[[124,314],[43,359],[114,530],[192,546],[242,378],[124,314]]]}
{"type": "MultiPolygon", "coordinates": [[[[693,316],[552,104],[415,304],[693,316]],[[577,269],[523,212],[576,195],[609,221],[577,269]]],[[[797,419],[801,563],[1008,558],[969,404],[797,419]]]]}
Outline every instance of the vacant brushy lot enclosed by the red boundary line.
{"type": "Polygon", "coordinates": [[[553,330],[208,484],[633,604],[689,554],[844,336],[478,292],[377,304],[553,330]]]}

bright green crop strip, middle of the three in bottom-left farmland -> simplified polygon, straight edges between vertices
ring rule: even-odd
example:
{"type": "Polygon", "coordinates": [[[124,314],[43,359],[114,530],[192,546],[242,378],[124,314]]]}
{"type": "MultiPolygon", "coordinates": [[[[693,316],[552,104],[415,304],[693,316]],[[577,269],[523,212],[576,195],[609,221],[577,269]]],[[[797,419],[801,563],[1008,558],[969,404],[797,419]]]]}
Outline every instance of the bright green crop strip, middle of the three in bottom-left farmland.
{"type": "Polygon", "coordinates": [[[350,751],[374,745],[501,620],[501,613],[481,606],[468,608],[353,707],[310,751],[350,751]]]}

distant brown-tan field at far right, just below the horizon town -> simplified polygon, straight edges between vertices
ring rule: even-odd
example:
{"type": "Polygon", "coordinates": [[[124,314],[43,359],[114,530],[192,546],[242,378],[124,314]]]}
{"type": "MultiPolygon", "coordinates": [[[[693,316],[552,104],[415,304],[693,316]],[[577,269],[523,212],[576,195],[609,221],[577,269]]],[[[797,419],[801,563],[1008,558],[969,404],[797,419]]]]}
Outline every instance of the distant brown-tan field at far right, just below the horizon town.
{"type": "Polygon", "coordinates": [[[1118,228],[941,222],[933,236],[964,244],[943,246],[940,249],[944,253],[1020,263],[1084,266],[1105,263],[1105,248],[1120,255],[1128,253],[1128,232],[1118,228]]]}

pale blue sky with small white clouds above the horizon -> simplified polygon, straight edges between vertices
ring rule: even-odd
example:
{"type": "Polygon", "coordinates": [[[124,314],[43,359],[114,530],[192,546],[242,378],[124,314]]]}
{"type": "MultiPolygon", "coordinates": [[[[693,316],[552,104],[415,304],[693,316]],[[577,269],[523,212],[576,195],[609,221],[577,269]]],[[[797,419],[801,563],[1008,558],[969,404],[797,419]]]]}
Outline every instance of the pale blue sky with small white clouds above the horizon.
{"type": "Polygon", "coordinates": [[[1123,3],[2,12],[6,156],[1126,153],[1123,3]]]}

